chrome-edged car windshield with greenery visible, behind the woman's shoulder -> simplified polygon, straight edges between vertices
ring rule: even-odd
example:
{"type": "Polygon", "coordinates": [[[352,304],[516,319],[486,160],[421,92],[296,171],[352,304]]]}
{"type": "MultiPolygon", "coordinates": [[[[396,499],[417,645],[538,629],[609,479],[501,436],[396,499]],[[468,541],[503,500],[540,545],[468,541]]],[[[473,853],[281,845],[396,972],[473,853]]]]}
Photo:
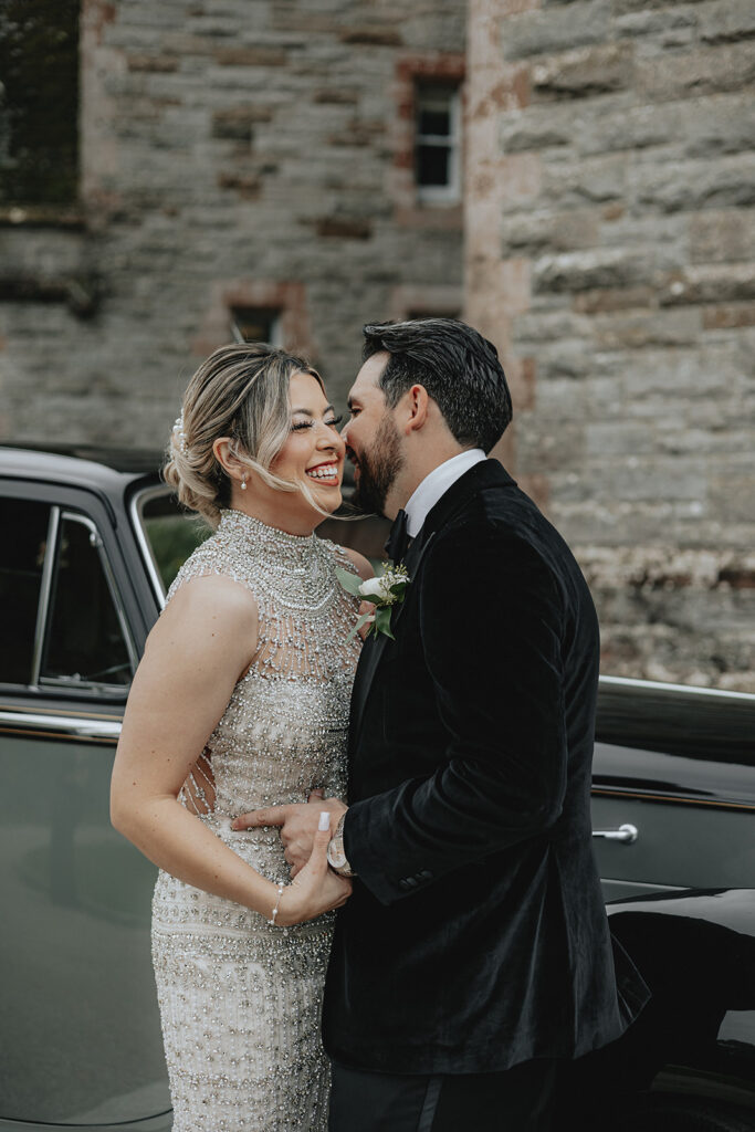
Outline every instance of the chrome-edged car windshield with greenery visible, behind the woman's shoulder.
{"type": "Polygon", "coordinates": [[[137,496],[137,532],[162,597],[192,550],[212,534],[207,524],[185,511],[166,488],[151,488],[137,496]]]}

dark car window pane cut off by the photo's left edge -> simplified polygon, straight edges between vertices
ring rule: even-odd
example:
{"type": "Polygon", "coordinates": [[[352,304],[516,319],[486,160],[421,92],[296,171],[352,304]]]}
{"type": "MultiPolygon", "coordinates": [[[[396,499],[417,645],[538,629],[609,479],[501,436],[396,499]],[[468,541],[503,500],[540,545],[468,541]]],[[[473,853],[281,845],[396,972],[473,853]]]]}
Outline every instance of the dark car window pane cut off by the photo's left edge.
{"type": "Polygon", "coordinates": [[[50,507],[0,499],[0,681],[29,684],[50,507]]]}

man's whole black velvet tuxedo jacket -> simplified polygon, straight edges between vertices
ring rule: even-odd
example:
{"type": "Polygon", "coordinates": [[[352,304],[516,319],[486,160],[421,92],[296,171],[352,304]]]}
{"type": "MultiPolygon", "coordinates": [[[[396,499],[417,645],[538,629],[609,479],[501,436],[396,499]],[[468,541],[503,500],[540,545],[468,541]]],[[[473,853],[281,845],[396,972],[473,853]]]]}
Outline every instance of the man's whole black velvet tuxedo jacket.
{"type": "Polygon", "coordinates": [[[475,1073],[573,1057],[642,1004],[617,987],[592,856],[599,635],[568,547],[497,461],[412,542],[395,641],[352,701],[324,1037],[341,1064],[475,1073]]]}

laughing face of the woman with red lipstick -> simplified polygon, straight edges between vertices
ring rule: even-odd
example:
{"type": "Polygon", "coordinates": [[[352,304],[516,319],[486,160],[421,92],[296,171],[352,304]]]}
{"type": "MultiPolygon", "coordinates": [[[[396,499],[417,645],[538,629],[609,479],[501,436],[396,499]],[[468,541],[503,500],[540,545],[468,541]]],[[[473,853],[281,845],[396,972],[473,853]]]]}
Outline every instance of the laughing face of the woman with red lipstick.
{"type": "Polygon", "coordinates": [[[341,504],[345,445],[338,435],[341,418],[311,374],[291,378],[291,431],[271,471],[285,480],[306,480],[324,511],[341,504]]]}

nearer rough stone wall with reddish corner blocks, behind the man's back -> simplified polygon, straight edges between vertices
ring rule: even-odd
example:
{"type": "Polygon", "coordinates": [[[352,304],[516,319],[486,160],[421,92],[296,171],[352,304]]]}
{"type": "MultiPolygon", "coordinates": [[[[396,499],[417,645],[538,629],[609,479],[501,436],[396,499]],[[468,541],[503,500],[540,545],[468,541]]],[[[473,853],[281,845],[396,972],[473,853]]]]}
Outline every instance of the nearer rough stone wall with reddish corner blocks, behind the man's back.
{"type": "Polygon", "coordinates": [[[755,8],[471,0],[466,316],[606,671],[755,691],[755,8]]]}

